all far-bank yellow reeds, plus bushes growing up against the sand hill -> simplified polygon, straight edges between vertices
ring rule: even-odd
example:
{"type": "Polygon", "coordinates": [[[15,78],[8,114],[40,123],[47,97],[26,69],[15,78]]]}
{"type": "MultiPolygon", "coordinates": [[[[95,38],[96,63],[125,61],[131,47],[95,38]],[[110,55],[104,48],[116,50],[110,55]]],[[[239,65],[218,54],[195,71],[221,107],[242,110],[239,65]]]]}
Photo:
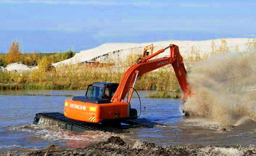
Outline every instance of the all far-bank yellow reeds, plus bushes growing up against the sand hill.
{"type": "MultiPolygon", "coordinates": [[[[249,50],[256,49],[256,40],[248,40],[249,50]]],[[[200,54],[200,50],[192,47],[190,55],[184,57],[187,70],[191,65],[218,53],[227,53],[228,46],[225,40],[222,40],[220,46],[216,46],[212,41],[211,52],[209,54],[200,54]]],[[[236,46],[239,51],[239,47],[236,46]]],[[[38,60],[38,69],[8,72],[0,71],[0,90],[14,89],[86,89],[93,82],[107,81],[119,83],[126,69],[135,63],[135,54],[130,54],[125,61],[121,61],[118,67],[104,66],[100,68],[88,68],[84,64],[62,65],[58,68],[49,68],[52,63],[48,56],[43,56],[38,60]]],[[[109,60],[112,63],[113,60],[109,60]]],[[[179,92],[180,86],[175,73],[170,65],[160,68],[142,76],[136,82],[137,90],[163,90],[179,92]]],[[[152,95],[153,96],[153,95],[152,95]]],[[[161,95],[154,95],[161,96],[161,95]]],[[[165,96],[165,95],[162,95],[165,96]]]]}

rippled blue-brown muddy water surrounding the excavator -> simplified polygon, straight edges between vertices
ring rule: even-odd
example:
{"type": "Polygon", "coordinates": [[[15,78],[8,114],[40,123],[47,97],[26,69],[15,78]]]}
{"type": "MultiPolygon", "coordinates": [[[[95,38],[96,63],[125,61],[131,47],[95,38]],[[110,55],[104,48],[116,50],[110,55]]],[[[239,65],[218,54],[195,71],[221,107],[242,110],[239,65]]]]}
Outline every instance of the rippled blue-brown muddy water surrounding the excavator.
{"type": "MultiPolygon", "coordinates": [[[[53,143],[67,147],[83,147],[107,139],[111,133],[86,131],[81,134],[64,131],[58,127],[31,124],[35,113],[63,112],[63,103],[71,96],[83,95],[83,90],[19,90],[0,91],[0,149],[41,148],[53,143]]],[[[145,117],[166,126],[152,129],[129,129],[131,133],[119,136],[140,139],[158,145],[201,144],[249,146],[256,143],[256,123],[241,120],[237,127],[218,130],[219,124],[202,118],[185,118],[180,99],[146,98],[150,92],[139,91],[142,104],[146,104],[145,117]]],[[[138,109],[138,97],[131,101],[138,109]]]]}

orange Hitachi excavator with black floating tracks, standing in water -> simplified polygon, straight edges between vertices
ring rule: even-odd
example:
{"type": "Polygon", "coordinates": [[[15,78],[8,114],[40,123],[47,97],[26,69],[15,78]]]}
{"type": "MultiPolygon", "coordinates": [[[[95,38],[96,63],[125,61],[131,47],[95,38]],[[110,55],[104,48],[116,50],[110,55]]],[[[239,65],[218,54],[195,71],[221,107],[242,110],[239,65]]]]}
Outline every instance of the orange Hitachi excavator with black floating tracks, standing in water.
{"type": "MultiPolygon", "coordinates": [[[[149,121],[140,121],[137,110],[132,109],[130,102],[135,90],[136,80],[145,73],[159,69],[171,64],[180,84],[182,91],[182,102],[184,103],[188,96],[193,96],[186,80],[187,71],[185,69],[183,58],[180,55],[179,47],[170,44],[164,49],[153,53],[153,45],[146,46],[143,54],[137,62],[130,66],[122,76],[120,83],[96,82],[88,86],[85,96],[74,96],[73,99],[67,99],[64,106],[64,115],[62,113],[38,113],[34,123],[42,117],[62,121],[62,128],[73,130],[68,125],[100,125],[111,126],[117,123],[140,123],[143,126],[154,125],[149,121]],[[170,49],[170,55],[161,58],[155,58],[165,50],[170,49]],[[151,52],[149,52],[151,50],[151,52]],[[125,97],[127,96],[127,100],[125,97]],[[138,122],[136,122],[138,121],[138,122]],[[73,122],[73,123],[72,123],[73,122]],[[63,125],[64,124],[64,125],[63,125]],[[68,128],[69,127],[69,128],[68,128]]],[[[141,108],[140,108],[141,109],[141,108]]],[[[141,110],[139,110],[141,111],[141,110]]],[[[74,131],[74,130],[73,130],[74,131]]]]}

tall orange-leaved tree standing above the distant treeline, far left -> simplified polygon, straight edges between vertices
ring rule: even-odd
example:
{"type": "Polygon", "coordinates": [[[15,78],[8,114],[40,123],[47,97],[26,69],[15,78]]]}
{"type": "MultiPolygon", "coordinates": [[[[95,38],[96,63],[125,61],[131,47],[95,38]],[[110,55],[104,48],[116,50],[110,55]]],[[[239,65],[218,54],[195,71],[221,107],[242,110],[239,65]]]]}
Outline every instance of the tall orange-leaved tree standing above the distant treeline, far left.
{"type": "Polygon", "coordinates": [[[20,45],[12,41],[9,52],[7,53],[6,61],[8,64],[19,62],[21,60],[20,45]]]}

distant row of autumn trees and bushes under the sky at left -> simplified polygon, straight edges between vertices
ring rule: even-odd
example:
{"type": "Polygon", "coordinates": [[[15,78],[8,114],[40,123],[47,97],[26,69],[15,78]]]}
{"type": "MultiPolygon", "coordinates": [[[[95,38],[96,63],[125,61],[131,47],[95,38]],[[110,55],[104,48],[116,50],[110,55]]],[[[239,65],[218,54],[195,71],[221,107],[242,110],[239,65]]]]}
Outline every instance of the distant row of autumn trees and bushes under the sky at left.
{"type": "Polygon", "coordinates": [[[42,59],[48,60],[50,63],[60,62],[75,56],[71,50],[58,53],[21,53],[18,42],[12,41],[9,51],[6,54],[0,54],[0,66],[7,66],[10,63],[21,62],[27,66],[37,66],[42,59]]]}

